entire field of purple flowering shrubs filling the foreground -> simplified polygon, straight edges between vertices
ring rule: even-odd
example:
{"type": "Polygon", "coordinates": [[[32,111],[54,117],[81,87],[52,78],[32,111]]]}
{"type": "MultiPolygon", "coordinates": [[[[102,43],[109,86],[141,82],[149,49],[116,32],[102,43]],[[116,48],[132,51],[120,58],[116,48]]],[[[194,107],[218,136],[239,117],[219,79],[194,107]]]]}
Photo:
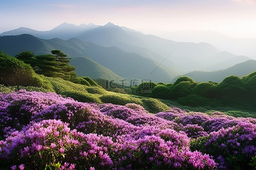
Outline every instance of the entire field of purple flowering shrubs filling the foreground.
{"type": "Polygon", "coordinates": [[[255,123],[20,90],[0,94],[0,169],[253,169],[255,123]]]}

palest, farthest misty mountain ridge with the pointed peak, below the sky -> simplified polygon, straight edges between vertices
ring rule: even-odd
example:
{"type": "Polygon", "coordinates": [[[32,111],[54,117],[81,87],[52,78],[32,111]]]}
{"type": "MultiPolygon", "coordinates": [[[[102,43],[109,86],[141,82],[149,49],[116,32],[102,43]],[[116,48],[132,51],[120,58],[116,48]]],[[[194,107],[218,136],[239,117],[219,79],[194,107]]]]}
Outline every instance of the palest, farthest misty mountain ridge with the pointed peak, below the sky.
{"type": "MultiPolygon", "coordinates": [[[[191,43],[191,42],[175,42],[172,40],[162,39],[154,35],[145,35],[141,32],[135,31],[126,27],[119,27],[113,23],[107,23],[105,25],[85,25],[83,31],[74,31],[70,33],[71,28],[77,27],[75,24],[63,23],[50,31],[44,32],[44,36],[35,35],[34,32],[30,33],[36,37],[47,39],[46,35],[51,38],[59,37],[60,39],[77,37],[83,41],[93,42],[94,44],[102,46],[117,46],[118,48],[125,50],[125,52],[138,53],[141,56],[154,59],[166,67],[172,67],[172,69],[179,70],[180,72],[188,72],[193,70],[204,69],[205,67],[212,66],[221,61],[225,61],[225,56],[220,59],[215,59],[220,50],[216,49],[213,45],[208,43],[191,43]],[[55,30],[61,28],[66,32],[53,33],[55,30]],[[34,34],[33,34],[34,33],[34,34]],[[62,35],[62,36],[61,36],[62,35]],[[75,36],[76,35],[76,36],[75,36]],[[171,56],[169,56],[171,54],[171,56]],[[169,56],[169,57],[168,57],[169,56]]],[[[28,32],[26,32],[28,33],[28,32]]],[[[15,35],[13,32],[5,32],[1,35],[15,35]]],[[[20,31],[16,35],[20,34],[20,31]]],[[[243,61],[246,61],[246,58],[243,61]]],[[[234,61],[236,63],[236,56],[234,55],[234,61]]],[[[229,67],[230,65],[226,66],[229,67]]],[[[216,70],[216,69],[215,69],[216,70]]],[[[213,71],[213,70],[210,70],[213,71]]]]}

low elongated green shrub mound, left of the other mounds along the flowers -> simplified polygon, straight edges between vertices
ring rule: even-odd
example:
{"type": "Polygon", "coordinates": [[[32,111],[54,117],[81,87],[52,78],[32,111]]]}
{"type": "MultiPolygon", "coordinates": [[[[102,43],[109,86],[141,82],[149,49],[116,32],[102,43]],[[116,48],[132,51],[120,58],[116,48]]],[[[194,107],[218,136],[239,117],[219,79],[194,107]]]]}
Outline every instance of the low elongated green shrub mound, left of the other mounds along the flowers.
{"type": "Polygon", "coordinates": [[[97,96],[94,96],[92,94],[88,94],[85,92],[79,92],[79,91],[65,91],[62,92],[61,95],[65,95],[67,97],[71,97],[77,101],[81,102],[87,102],[87,103],[98,103],[101,104],[101,100],[98,99],[97,96]]]}

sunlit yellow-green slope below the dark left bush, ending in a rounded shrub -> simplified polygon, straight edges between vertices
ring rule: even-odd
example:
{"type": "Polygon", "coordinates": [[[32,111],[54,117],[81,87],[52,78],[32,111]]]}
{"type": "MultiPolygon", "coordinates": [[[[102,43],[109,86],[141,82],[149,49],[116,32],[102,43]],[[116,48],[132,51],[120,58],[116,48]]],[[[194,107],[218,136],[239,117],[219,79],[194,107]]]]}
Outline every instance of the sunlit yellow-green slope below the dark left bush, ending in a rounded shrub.
{"type": "Polygon", "coordinates": [[[0,92],[13,92],[24,88],[28,91],[56,92],[56,94],[60,94],[64,97],[72,97],[75,100],[89,103],[112,103],[119,105],[135,103],[142,105],[150,113],[158,113],[169,109],[166,104],[163,104],[158,99],[146,99],[146,97],[139,99],[138,97],[133,97],[127,94],[106,91],[104,88],[99,86],[84,86],[68,82],[61,78],[51,78],[42,75],[39,76],[44,80],[44,88],[21,86],[5,87],[0,84],[0,92]]]}

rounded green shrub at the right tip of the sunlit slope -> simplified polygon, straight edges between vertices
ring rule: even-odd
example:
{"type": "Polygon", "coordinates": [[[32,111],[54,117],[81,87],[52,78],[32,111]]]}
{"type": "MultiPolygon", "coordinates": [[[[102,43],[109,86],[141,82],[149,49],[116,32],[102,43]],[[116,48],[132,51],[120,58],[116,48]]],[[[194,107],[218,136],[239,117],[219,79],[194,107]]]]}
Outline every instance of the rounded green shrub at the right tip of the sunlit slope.
{"type": "Polygon", "coordinates": [[[170,109],[166,104],[153,98],[142,99],[143,107],[150,113],[158,113],[170,109]]]}

